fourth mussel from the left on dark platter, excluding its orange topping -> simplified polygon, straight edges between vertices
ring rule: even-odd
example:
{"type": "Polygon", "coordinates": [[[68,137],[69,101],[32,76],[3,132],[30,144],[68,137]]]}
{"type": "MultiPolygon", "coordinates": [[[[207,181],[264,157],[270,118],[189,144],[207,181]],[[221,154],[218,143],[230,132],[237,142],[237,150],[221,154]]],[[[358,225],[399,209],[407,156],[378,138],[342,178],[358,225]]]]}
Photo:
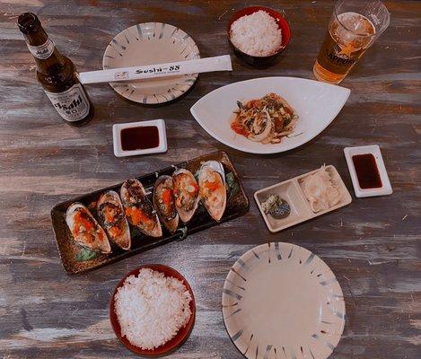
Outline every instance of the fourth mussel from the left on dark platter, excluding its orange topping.
{"type": "Polygon", "coordinates": [[[155,207],[162,224],[170,233],[175,232],[177,230],[177,226],[179,225],[179,214],[175,207],[175,201],[172,195],[173,187],[172,178],[166,175],[158,177],[153,187],[153,206],[155,207]],[[164,188],[171,190],[171,205],[169,213],[163,212],[162,206],[160,206],[162,203],[160,202],[162,200],[162,189],[164,188]]]}

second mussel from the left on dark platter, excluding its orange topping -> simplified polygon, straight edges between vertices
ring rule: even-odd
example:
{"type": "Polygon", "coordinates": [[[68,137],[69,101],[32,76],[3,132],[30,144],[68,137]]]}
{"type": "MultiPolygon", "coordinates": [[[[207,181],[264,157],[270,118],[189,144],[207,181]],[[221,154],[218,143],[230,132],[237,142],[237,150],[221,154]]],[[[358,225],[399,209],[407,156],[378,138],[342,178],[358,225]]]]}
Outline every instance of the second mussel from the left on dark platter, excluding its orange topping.
{"type": "Polygon", "coordinates": [[[118,247],[123,250],[130,250],[130,228],[128,227],[126,215],[124,214],[123,204],[121,203],[117,192],[110,190],[101,194],[101,197],[97,202],[97,214],[98,220],[107,232],[110,241],[117,244],[118,247]],[[109,223],[103,215],[104,209],[109,206],[117,211],[117,215],[119,217],[117,222],[109,223]],[[120,234],[113,235],[111,229],[109,228],[110,225],[118,227],[120,234]]]}

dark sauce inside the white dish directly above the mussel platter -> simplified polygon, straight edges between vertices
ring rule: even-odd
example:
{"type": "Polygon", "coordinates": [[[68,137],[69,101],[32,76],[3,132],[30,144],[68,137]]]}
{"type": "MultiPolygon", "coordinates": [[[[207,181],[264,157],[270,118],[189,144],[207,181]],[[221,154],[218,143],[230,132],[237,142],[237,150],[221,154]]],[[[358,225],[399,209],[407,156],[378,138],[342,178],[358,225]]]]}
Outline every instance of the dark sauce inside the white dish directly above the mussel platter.
{"type": "Polygon", "coordinates": [[[158,127],[139,126],[123,128],[120,133],[123,151],[146,150],[160,144],[158,127]]]}

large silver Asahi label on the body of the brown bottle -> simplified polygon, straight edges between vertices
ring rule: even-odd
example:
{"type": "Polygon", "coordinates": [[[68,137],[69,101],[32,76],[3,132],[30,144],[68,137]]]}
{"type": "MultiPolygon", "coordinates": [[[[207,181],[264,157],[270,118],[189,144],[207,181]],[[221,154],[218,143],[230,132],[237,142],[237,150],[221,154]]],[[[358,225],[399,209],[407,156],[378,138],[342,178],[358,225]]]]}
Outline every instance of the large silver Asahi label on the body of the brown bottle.
{"type": "Polygon", "coordinates": [[[45,93],[58,114],[66,121],[79,121],[89,113],[90,103],[80,83],[74,84],[65,92],[45,91],[45,93]]]}

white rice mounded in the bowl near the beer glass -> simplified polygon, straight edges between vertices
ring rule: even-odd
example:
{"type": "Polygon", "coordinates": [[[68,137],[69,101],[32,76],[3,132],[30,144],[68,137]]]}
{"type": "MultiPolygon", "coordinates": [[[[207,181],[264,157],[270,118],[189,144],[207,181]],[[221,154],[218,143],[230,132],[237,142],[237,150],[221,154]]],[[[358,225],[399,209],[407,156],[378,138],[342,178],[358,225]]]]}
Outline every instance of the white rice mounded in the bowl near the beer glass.
{"type": "Polygon", "coordinates": [[[259,10],[232,22],[230,39],[236,48],[248,55],[267,57],[281,48],[282,32],[272,16],[259,10]]]}

